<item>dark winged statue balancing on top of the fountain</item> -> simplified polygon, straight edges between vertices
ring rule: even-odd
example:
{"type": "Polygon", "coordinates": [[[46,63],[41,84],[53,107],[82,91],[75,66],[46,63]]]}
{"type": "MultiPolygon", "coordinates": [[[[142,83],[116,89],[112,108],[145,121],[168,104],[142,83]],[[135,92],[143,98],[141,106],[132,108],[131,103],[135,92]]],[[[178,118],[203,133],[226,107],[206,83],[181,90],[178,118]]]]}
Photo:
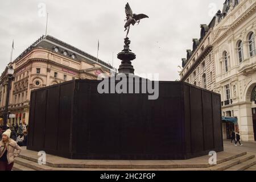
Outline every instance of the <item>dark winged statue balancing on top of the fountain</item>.
{"type": "Polygon", "coordinates": [[[131,7],[130,7],[129,3],[126,3],[125,14],[126,14],[125,31],[127,30],[126,37],[129,34],[131,24],[134,26],[135,23],[139,24],[141,19],[148,18],[148,16],[145,15],[145,14],[133,14],[133,11],[131,10],[131,7]]]}

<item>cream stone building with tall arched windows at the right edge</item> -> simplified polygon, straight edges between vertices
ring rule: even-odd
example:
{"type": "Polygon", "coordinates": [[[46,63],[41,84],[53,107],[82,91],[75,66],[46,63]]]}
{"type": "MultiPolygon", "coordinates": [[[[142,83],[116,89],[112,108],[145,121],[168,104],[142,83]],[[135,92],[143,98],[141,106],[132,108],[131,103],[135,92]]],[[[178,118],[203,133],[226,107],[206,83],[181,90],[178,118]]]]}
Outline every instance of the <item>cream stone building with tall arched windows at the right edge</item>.
{"type": "Polygon", "coordinates": [[[221,94],[222,115],[237,118],[237,122],[222,123],[223,136],[229,138],[236,129],[242,140],[253,141],[256,140],[256,1],[225,1],[218,19],[211,43],[216,89],[221,94]]]}

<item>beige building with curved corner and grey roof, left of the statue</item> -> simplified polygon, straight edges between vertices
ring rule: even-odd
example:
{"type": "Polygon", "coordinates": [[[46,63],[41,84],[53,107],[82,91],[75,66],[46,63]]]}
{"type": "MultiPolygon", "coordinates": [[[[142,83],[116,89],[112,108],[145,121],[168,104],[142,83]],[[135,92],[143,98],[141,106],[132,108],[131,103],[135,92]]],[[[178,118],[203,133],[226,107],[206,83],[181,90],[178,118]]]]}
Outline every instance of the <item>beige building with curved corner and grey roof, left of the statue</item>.
{"type": "MultiPolygon", "coordinates": [[[[110,76],[116,70],[102,60],[67,43],[42,36],[10,63],[14,68],[9,111],[15,118],[9,123],[28,123],[31,90],[72,79],[97,79],[101,73],[110,76]],[[112,72],[112,73],[113,73],[112,72]]],[[[6,70],[0,77],[0,112],[4,113],[7,94],[6,70]]]]}

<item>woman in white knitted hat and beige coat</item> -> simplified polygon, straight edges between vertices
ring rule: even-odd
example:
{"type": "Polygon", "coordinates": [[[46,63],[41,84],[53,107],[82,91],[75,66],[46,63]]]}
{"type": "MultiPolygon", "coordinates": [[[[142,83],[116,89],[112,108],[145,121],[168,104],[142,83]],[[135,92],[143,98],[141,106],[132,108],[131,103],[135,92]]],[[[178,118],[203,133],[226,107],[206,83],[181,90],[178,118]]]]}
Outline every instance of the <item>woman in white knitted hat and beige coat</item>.
{"type": "Polygon", "coordinates": [[[11,171],[14,164],[14,158],[21,152],[20,146],[10,138],[11,130],[6,130],[2,134],[0,141],[0,171],[11,171]],[[15,153],[15,149],[17,152],[15,153]]]}

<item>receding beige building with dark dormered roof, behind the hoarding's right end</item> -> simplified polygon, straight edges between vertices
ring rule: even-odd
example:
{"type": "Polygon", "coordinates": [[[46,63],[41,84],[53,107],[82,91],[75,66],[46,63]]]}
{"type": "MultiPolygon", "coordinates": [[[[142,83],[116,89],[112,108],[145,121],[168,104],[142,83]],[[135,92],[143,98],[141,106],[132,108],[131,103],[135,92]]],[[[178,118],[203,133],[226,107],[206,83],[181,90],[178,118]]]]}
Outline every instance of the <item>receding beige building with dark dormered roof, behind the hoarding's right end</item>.
{"type": "Polygon", "coordinates": [[[180,80],[204,89],[216,91],[215,68],[212,42],[212,30],[216,18],[207,24],[201,24],[200,39],[192,39],[192,50],[187,50],[187,58],[182,59],[180,80]]]}

